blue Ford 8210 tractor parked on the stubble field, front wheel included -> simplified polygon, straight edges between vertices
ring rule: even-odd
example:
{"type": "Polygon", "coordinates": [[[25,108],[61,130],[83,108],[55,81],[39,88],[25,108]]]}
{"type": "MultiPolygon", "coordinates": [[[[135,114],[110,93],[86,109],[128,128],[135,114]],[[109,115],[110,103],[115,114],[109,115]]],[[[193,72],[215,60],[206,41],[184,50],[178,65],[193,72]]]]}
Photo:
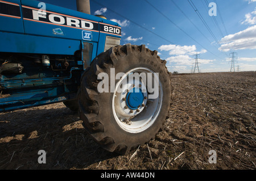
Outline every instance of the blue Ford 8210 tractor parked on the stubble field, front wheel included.
{"type": "Polygon", "coordinates": [[[63,102],[102,148],[126,154],[163,127],[171,73],[156,50],[119,45],[119,24],[89,6],[0,1],[0,112],[63,102]]]}

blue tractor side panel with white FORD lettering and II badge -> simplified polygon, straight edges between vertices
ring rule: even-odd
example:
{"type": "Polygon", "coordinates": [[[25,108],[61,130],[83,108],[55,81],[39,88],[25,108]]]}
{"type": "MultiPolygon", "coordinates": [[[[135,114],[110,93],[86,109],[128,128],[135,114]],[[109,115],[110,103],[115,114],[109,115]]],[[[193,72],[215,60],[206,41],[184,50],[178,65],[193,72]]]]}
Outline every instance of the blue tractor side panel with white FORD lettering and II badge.
{"type": "Polygon", "coordinates": [[[90,38],[84,40],[98,42],[98,17],[49,4],[44,16],[39,12],[38,3],[22,0],[25,33],[83,40],[84,32],[88,32],[90,38]]]}

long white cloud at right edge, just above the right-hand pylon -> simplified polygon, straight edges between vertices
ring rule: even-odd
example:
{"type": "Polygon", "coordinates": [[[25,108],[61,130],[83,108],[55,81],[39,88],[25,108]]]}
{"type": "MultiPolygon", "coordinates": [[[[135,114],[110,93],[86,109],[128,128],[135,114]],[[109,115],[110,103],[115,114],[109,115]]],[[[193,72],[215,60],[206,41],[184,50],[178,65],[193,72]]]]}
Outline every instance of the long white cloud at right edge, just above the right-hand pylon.
{"type": "Polygon", "coordinates": [[[228,52],[230,49],[256,49],[256,25],[246,30],[225,36],[221,39],[219,50],[228,52]]]}

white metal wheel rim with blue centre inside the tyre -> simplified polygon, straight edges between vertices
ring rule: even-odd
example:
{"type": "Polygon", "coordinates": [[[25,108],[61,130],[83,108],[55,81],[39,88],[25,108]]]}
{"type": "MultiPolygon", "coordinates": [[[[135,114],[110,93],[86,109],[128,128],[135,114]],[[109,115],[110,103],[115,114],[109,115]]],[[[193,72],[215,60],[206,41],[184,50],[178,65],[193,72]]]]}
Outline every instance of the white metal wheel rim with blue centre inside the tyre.
{"type": "MultiPolygon", "coordinates": [[[[154,92],[155,93],[155,92],[154,92]]],[[[122,78],[115,85],[112,100],[112,110],[115,121],[124,131],[130,133],[143,132],[152,124],[160,113],[163,100],[162,83],[158,74],[148,68],[135,68],[123,74],[122,78]],[[151,73],[152,77],[147,77],[148,81],[158,82],[158,97],[150,98],[148,87],[142,75],[151,73]],[[130,75],[138,76],[129,79],[130,75]],[[122,85],[122,86],[121,86],[122,85]]]]}

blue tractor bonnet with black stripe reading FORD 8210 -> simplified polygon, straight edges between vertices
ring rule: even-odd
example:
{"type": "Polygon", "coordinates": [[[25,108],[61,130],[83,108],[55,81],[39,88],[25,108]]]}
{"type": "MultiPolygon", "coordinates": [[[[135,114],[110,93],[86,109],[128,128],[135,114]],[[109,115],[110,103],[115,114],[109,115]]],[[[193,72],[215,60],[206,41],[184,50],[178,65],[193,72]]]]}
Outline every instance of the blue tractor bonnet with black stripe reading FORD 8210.
{"type": "MultiPolygon", "coordinates": [[[[42,15],[38,14],[38,1],[21,0],[22,5],[20,5],[20,0],[0,2],[5,2],[5,5],[15,8],[18,7],[20,11],[16,17],[13,15],[0,16],[1,24],[5,24],[5,26],[0,27],[0,52],[73,54],[76,50],[81,50],[81,42],[72,40],[85,40],[98,43],[98,47],[95,44],[93,46],[94,58],[104,51],[106,35],[121,37],[121,28],[117,23],[93,15],[46,4],[47,18],[42,18],[42,15]],[[49,18],[50,16],[52,18],[49,18]],[[61,23],[61,19],[64,23],[61,23]],[[3,32],[18,32],[35,36],[20,36],[3,32]],[[50,37],[59,39],[51,39],[50,37]],[[96,47],[97,49],[95,49],[96,47]]],[[[9,14],[12,13],[9,11],[9,14]]]]}

